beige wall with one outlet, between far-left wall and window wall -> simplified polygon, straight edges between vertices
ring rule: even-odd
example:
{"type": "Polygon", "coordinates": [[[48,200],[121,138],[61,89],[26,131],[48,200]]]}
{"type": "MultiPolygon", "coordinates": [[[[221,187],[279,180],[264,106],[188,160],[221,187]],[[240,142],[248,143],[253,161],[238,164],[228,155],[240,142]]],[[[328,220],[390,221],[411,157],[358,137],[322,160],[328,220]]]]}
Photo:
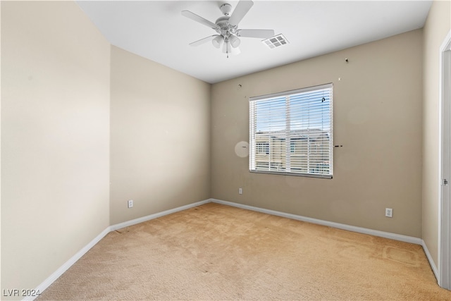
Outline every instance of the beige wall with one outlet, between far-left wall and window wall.
{"type": "Polygon", "coordinates": [[[206,82],[112,47],[111,224],[210,197],[209,97],[206,82]]]}

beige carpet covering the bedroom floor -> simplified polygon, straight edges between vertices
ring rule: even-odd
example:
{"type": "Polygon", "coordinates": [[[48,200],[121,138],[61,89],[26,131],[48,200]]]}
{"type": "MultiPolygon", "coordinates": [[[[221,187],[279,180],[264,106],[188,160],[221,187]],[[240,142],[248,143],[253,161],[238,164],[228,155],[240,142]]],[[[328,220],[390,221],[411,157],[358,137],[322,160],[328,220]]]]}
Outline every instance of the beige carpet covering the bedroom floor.
{"type": "Polygon", "coordinates": [[[220,204],[111,232],[39,300],[451,300],[419,245],[220,204]]]}

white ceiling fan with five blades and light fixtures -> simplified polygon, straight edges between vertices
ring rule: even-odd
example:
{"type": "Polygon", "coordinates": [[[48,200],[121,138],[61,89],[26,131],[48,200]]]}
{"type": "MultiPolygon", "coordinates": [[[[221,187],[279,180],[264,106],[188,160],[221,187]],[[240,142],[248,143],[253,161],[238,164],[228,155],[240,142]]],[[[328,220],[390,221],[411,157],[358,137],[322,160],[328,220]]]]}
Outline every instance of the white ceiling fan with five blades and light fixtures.
{"type": "Polygon", "coordinates": [[[240,53],[238,46],[240,46],[241,40],[239,37],[255,37],[260,39],[273,37],[274,30],[248,30],[238,28],[238,23],[240,23],[253,5],[254,2],[251,0],[240,0],[230,16],[232,6],[227,3],[223,4],[219,9],[224,16],[218,18],[215,23],[210,22],[201,16],[197,16],[191,11],[182,11],[182,16],[211,27],[218,33],[218,35],[211,35],[209,37],[204,37],[204,39],[199,39],[199,41],[192,42],[190,43],[190,46],[198,46],[211,41],[213,46],[218,49],[222,46],[223,53],[227,54],[228,57],[228,54],[240,53]]]}

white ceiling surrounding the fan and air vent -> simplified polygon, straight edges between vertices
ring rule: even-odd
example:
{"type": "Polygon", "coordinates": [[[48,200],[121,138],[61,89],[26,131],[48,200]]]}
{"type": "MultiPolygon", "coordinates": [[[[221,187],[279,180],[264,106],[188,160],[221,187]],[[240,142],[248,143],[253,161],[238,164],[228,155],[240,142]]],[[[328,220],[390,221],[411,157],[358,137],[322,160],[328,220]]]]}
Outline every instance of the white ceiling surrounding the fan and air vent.
{"type": "Polygon", "coordinates": [[[262,1],[242,19],[242,29],[273,29],[289,44],[269,49],[242,37],[241,54],[229,56],[211,42],[216,32],[181,15],[188,10],[215,22],[219,6],[237,1],[78,1],[111,44],[192,75],[220,82],[423,27],[432,1],[262,1]]]}

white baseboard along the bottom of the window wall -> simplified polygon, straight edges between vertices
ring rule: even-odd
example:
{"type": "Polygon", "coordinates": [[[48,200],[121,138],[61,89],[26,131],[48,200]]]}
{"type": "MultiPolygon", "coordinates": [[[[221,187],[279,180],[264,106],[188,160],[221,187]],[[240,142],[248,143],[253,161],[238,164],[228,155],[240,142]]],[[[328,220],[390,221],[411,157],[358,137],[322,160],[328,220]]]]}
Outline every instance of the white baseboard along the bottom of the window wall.
{"type": "Polygon", "coordinates": [[[312,219],[311,217],[300,216],[300,215],[296,215],[296,214],[289,214],[289,213],[280,212],[280,211],[274,211],[274,210],[270,210],[270,209],[262,209],[262,208],[259,208],[259,207],[253,207],[253,206],[248,206],[248,205],[244,205],[244,204],[238,204],[238,203],[234,203],[234,202],[223,201],[221,199],[211,199],[211,202],[218,203],[218,204],[229,205],[229,206],[233,206],[233,207],[238,207],[238,208],[241,208],[241,209],[248,209],[248,210],[252,210],[252,211],[259,211],[259,212],[262,212],[262,213],[276,215],[276,216],[282,216],[282,217],[286,217],[288,219],[296,219],[298,221],[307,221],[309,223],[316,223],[316,224],[319,224],[319,225],[328,226],[328,227],[332,227],[332,228],[338,228],[338,229],[352,231],[352,232],[357,232],[357,233],[364,233],[364,234],[379,236],[381,238],[390,238],[390,239],[393,239],[393,240],[400,240],[400,241],[403,241],[403,242],[414,243],[416,245],[423,245],[423,240],[421,238],[414,238],[412,236],[406,236],[406,235],[400,235],[400,234],[395,234],[395,233],[371,230],[371,229],[368,229],[368,228],[361,228],[361,227],[356,227],[356,226],[350,226],[350,225],[346,225],[344,223],[334,223],[333,221],[323,221],[321,219],[312,219]]]}

